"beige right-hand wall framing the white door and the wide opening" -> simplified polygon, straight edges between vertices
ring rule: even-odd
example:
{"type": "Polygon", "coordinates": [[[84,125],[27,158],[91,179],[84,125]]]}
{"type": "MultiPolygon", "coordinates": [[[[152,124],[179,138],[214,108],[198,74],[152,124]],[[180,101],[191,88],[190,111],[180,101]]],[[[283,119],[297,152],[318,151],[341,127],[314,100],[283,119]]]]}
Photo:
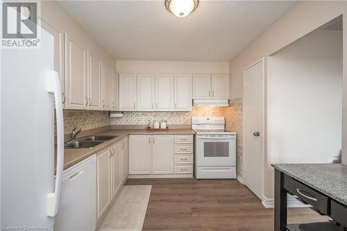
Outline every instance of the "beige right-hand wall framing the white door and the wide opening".
{"type": "MultiPolygon", "coordinates": [[[[253,41],[246,49],[230,61],[231,69],[231,98],[243,96],[243,71],[244,68],[256,60],[264,57],[265,83],[267,83],[267,56],[291,44],[299,38],[314,31],[323,24],[335,19],[339,15],[347,14],[346,1],[301,1],[296,4],[286,15],[268,28],[260,37],[253,41]]],[[[347,17],[344,17],[344,43],[347,42],[347,17]]],[[[344,60],[347,60],[347,46],[344,46],[344,60]]],[[[347,62],[344,62],[344,103],[343,103],[343,132],[342,132],[342,161],[347,164],[347,62]]],[[[266,93],[265,84],[265,93],[266,93]]],[[[265,94],[266,96],[266,94],[265,94]]],[[[266,101],[265,101],[266,104],[266,101]]],[[[267,104],[266,104],[267,105],[267,104]]],[[[265,110],[266,118],[266,110],[265,110]]],[[[266,121],[264,121],[266,128],[266,121]]],[[[266,137],[266,130],[264,130],[266,137]]],[[[266,143],[266,141],[265,141],[266,143]]],[[[264,196],[272,198],[273,169],[267,165],[265,147],[264,166],[264,196]]]]}

